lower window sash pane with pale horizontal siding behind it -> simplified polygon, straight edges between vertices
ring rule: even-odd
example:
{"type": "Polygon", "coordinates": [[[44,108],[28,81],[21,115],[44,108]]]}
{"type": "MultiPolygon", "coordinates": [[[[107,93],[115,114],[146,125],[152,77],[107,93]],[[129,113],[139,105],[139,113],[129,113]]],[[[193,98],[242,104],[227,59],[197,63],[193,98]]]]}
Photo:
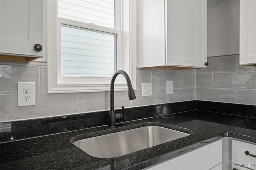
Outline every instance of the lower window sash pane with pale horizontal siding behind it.
{"type": "Polygon", "coordinates": [[[116,70],[116,34],[74,26],[61,27],[61,75],[112,77],[116,70]]]}

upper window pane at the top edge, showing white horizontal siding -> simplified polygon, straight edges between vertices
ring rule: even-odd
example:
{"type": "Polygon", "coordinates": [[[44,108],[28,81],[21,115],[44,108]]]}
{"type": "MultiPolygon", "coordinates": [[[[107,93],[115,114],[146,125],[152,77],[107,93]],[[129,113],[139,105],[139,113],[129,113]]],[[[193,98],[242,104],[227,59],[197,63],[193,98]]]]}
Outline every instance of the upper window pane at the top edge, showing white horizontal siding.
{"type": "Polygon", "coordinates": [[[59,0],[58,16],[115,28],[114,0],[59,0]]]}

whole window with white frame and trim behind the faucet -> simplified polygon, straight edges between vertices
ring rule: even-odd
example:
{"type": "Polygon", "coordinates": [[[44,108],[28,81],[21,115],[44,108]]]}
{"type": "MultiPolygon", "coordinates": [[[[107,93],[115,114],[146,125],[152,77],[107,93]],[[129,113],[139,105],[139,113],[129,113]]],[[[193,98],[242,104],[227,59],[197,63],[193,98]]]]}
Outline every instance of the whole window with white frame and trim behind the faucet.
{"type": "MultiPolygon", "coordinates": [[[[46,1],[48,93],[109,91],[119,69],[136,85],[136,2],[46,1]]],[[[126,90],[121,75],[115,89],[126,90]]]]}

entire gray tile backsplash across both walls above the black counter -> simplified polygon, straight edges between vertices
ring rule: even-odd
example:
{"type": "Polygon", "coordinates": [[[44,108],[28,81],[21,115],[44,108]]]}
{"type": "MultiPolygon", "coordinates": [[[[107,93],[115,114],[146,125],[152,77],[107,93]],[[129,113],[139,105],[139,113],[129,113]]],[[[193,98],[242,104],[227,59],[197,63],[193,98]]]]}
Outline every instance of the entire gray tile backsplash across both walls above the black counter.
{"type": "MultiPolygon", "coordinates": [[[[239,56],[208,58],[206,69],[137,69],[136,100],[115,92],[115,108],[179,101],[217,101],[256,105],[256,67],[239,65],[239,56]],[[173,94],[166,95],[166,81],[173,94]],[[152,83],[152,96],[142,97],[141,83],[152,83]]],[[[47,63],[1,63],[0,122],[108,110],[109,92],[47,94],[47,63]],[[17,107],[17,82],[36,82],[36,105],[17,107]]]]}

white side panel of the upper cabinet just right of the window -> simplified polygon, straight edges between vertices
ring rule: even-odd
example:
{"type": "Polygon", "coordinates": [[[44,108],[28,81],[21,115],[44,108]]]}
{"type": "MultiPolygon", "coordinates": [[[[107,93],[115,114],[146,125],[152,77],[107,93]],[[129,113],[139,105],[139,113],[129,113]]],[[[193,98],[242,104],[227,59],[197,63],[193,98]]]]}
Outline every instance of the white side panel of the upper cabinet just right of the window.
{"type": "Polygon", "coordinates": [[[139,67],[165,65],[164,0],[137,1],[139,67]]]}

